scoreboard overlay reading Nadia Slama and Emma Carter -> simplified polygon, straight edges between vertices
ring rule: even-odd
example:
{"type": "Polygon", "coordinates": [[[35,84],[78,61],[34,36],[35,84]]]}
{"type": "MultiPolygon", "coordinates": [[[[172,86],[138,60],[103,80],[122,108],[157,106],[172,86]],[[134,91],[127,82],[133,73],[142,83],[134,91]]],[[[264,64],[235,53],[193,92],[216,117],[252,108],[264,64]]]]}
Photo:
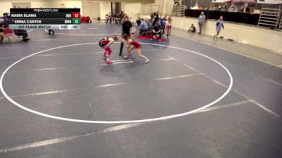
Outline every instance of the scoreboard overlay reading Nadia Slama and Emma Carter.
{"type": "Polygon", "coordinates": [[[80,8],[11,8],[11,29],[80,29],[80,8]]]}

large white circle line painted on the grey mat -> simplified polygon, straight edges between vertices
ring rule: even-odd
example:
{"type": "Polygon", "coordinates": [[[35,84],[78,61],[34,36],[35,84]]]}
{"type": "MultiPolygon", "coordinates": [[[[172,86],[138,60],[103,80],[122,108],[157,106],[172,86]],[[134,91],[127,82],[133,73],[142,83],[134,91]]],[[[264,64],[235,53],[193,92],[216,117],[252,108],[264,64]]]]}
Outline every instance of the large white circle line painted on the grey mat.
{"type": "Polygon", "coordinates": [[[225,70],[225,72],[227,73],[230,81],[229,81],[229,85],[228,85],[228,88],[226,89],[226,91],[221,95],[219,96],[219,98],[217,98],[216,100],[212,101],[212,103],[209,103],[207,105],[203,105],[202,107],[199,107],[195,110],[190,110],[188,112],[183,112],[183,113],[180,113],[180,114],[173,114],[173,115],[168,115],[168,116],[164,116],[164,117],[157,117],[157,118],[150,118],[150,119],[139,119],[139,120],[125,120],[125,121],[94,121],[94,120],[84,120],[84,119],[71,119],[71,118],[66,118],[66,117],[56,117],[54,115],[51,115],[51,114],[44,114],[42,112],[37,112],[35,110],[32,110],[30,108],[27,108],[23,105],[20,105],[19,103],[17,103],[15,100],[13,100],[12,98],[10,98],[8,96],[8,94],[6,93],[6,91],[4,90],[4,87],[3,87],[3,79],[4,79],[4,76],[6,74],[6,72],[8,72],[8,70],[11,69],[11,67],[13,67],[14,65],[16,65],[18,62],[22,61],[22,60],[25,60],[26,58],[30,58],[32,55],[37,55],[39,53],[44,53],[46,51],[51,51],[51,50],[55,50],[55,49],[58,49],[58,48],[66,48],[66,47],[69,47],[69,46],[81,46],[81,45],[87,45],[87,44],[97,44],[97,42],[95,43],[84,43],[84,44],[71,44],[71,45],[66,45],[66,46],[59,46],[59,47],[55,47],[55,48],[49,48],[47,50],[44,50],[44,51],[39,51],[37,53],[33,53],[31,55],[27,55],[25,58],[21,58],[20,60],[14,62],[12,65],[10,65],[4,72],[3,74],[1,74],[1,78],[0,78],[0,90],[1,92],[3,93],[4,97],[9,100],[11,103],[13,103],[14,105],[22,108],[23,110],[26,110],[28,112],[32,112],[34,114],[38,114],[42,117],[49,117],[49,118],[52,118],[52,119],[60,119],[60,120],[63,120],[63,121],[73,121],[73,122],[82,122],[82,123],[94,123],[94,124],[128,124],[128,123],[139,123],[139,122],[145,122],[145,121],[159,121],[159,120],[164,120],[164,119],[173,119],[173,118],[176,118],[176,117],[183,117],[183,116],[186,116],[188,114],[192,114],[192,113],[195,113],[195,112],[198,112],[200,110],[203,110],[207,107],[210,107],[212,105],[214,105],[215,103],[218,103],[220,100],[222,100],[230,91],[231,91],[231,88],[233,86],[233,77],[231,75],[231,72],[229,72],[229,70],[221,64],[221,62],[213,59],[213,58],[210,58],[209,56],[207,55],[204,55],[204,54],[201,54],[201,53],[197,53],[195,51],[190,51],[188,49],[185,49],[185,48],[178,48],[176,46],[166,46],[166,45],[161,45],[161,44],[148,44],[148,43],[140,43],[140,44],[147,44],[147,45],[154,45],[154,46],[164,46],[164,47],[168,47],[168,48],[175,48],[177,50],[182,50],[182,51],[186,51],[188,53],[194,53],[194,54],[197,54],[197,55],[201,55],[202,57],[204,58],[207,58],[209,60],[212,60],[213,62],[216,62],[216,64],[220,65],[223,70],[225,70]]]}

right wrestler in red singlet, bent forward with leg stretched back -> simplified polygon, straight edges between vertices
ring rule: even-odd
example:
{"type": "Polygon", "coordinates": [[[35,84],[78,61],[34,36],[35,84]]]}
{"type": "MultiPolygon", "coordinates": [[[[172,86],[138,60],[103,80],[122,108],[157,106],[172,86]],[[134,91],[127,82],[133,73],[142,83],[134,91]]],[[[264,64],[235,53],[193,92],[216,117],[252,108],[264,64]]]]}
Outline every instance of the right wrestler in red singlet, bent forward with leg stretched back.
{"type": "MultiPolygon", "coordinates": [[[[121,39],[121,38],[120,38],[121,39]]],[[[126,56],[123,56],[123,58],[128,58],[129,55],[131,55],[131,51],[134,49],[137,49],[137,55],[145,60],[145,63],[149,62],[149,59],[142,55],[142,50],[141,50],[141,44],[139,44],[137,41],[134,41],[133,39],[128,36],[128,34],[123,34],[123,38],[121,39],[123,43],[127,43],[127,48],[128,48],[128,53],[126,56]]]]}

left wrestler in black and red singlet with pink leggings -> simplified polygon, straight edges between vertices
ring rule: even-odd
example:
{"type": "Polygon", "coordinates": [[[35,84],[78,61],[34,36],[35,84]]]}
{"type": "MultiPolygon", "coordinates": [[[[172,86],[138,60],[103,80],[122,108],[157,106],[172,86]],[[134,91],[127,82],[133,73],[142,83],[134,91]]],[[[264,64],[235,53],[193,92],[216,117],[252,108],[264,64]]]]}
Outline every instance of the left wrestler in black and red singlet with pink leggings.
{"type": "Polygon", "coordinates": [[[101,46],[102,48],[104,48],[104,50],[106,51],[104,53],[104,57],[106,58],[106,63],[107,64],[112,64],[113,62],[110,60],[110,55],[111,55],[111,44],[114,43],[114,41],[118,40],[118,36],[114,35],[113,38],[110,37],[104,37],[103,39],[101,39],[99,41],[99,46],[101,46]]]}

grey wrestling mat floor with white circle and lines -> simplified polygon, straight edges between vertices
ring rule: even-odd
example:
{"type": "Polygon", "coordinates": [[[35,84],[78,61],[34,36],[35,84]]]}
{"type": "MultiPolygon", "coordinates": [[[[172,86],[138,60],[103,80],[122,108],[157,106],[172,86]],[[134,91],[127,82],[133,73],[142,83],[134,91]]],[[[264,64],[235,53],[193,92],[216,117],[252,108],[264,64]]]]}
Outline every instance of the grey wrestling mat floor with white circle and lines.
{"type": "Polygon", "coordinates": [[[113,65],[97,42],[120,25],[28,33],[0,46],[1,158],[282,157],[279,66],[186,32],[113,65]]]}

